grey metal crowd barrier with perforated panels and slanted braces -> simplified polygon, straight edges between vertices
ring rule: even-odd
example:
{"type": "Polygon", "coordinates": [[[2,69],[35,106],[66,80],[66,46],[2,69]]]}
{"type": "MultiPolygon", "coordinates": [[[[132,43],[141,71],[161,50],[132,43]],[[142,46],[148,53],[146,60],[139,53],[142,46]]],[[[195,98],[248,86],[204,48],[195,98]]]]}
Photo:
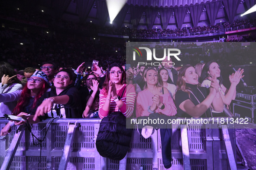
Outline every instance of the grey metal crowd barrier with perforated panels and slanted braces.
{"type": "MultiPolygon", "coordinates": [[[[42,139],[46,124],[32,126],[32,132],[42,139]]],[[[6,120],[0,119],[2,129],[6,120]]],[[[165,170],[162,164],[160,132],[144,139],[133,129],[130,149],[121,161],[101,157],[95,147],[99,119],[55,119],[46,139],[33,145],[32,135],[25,127],[13,127],[0,140],[1,170],[165,170]]],[[[49,125],[48,125],[49,126],[49,125]]],[[[236,170],[235,129],[218,128],[217,124],[196,126],[173,125],[172,167],[169,170],[236,170]]],[[[230,125],[229,125],[230,126],[230,125]]]]}

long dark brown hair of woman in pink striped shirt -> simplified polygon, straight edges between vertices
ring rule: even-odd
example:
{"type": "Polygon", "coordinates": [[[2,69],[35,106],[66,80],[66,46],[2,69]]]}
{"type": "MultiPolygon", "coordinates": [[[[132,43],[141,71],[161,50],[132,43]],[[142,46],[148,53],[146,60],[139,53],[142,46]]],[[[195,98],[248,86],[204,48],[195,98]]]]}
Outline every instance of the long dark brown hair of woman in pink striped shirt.
{"type": "Polygon", "coordinates": [[[112,64],[110,64],[110,66],[108,66],[108,69],[107,69],[107,72],[106,72],[106,79],[105,79],[105,81],[104,81],[104,83],[103,83],[103,86],[102,86],[103,88],[106,89],[106,94],[107,94],[108,89],[109,89],[110,69],[111,69],[112,67],[118,67],[118,68],[120,68],[120,70],[123,72],[123,73],[122,73],[122,80],[121,80],[121,83],[122,83],[122,85],[123,85],[123,84],[126,84],[126,72],[124,71],[123,67],[122,67],[120,64],[118,64],[118,63],[112,63],[112,64]]]}

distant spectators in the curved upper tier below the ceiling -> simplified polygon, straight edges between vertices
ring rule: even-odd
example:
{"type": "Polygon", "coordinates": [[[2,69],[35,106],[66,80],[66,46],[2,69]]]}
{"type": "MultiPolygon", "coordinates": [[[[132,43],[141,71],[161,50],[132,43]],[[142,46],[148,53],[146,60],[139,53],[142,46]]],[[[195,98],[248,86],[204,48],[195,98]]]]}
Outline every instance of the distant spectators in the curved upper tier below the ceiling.
{"type": "Polygon", "coordinates": [[[221,24],[216,25],[203,25],[196,27],[184,27],[184,28],[172,28],[172,29],[130,29],[127,27],[115,28],[113,25],[97,26],[93,23],[74,23],[63,19],[57,19],[51,17],[49,14],[37,11],[25,11],[21,9],[8,9],[2,8],[0,16],[11,17],[19,22],[29,23],[31,25],[41,25],[45,28],[55,29],[58,31],[76,31],[84,35],[94,35],[97,33],[109,34],[109,35],[126,35],[131,38],[161,38],[161,37],[179,37],[188,35],[204,35],[217,33],[220,31],[232,31],[244,28],[251,28],[256,26],[256,20],[243,19],[236,20],[232,23],[223,22],[224,28],[221,28],[221,24]]]}

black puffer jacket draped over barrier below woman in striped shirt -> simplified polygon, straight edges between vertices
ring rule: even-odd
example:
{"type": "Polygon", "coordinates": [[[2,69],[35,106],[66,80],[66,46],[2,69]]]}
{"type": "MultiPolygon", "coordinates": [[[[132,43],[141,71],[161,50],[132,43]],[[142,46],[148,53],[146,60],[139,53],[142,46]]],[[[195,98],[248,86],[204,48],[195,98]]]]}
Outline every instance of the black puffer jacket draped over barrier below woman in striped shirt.
{"type": "Polygon", "coordinates": [[[122,160],[130,146],[133,129],[126,129],[126,118],[121,112],[110,113],[100,123],[96,148],[102,157],[122,160]]]}

